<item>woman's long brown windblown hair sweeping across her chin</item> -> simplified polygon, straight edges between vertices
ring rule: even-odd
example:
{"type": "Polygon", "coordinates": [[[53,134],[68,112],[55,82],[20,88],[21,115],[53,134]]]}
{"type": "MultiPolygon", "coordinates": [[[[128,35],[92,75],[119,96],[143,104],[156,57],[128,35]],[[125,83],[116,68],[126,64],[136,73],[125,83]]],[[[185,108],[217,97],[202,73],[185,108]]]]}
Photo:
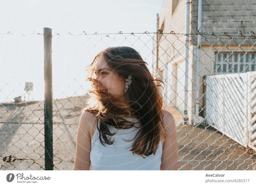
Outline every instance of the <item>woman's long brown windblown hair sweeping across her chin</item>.
{"type": "MultiPolygon", "coordinates": [[[[114,142],[114,140],[110,140],[110,136],[116,133],[111,134],[109,126],[117,129],[136,127],[134,126],[136,122],[125,120],[122,116],[137,118],[137,121],[140,122],[140,127],[134,137],[136,139],[132,144],[131,151],[133,154],[142,155],[143,158],[152,153],[155,155],[159,146],[160,135],[163,135],[164,138],[166,137],[162,111],[164,101],[159,87],[162,85],[156,83],[156,81],[161,80],[154,79],[146,64],[140,54],[131,47],[108,47],[101,51],[95,56],[92,63],[87,66],[89,78],[86,80],[92,82],[93,89],[89,93],[92,93],[93,96],[90,97],[89,106],[82,109],[82,112],[92,112],[97,118],[97,123],[100,119],[97,129],[100,131],[99,139],[102,145],[114,142]],[[126,81],[129,76],[132,78],[132,83],[125,92],[124,99],[113,94],[110,95],[108,92],[99,92],[99,82],[92,78],[95,71],[95,63],[99,57],[103,57],[106,60],[112,73],[117,73],[126,81]],[[126,104],[130,105],[129,109],[125,107],[126,104]]],[[[163,81],[161,82],[164,83],[163,81]]]]}

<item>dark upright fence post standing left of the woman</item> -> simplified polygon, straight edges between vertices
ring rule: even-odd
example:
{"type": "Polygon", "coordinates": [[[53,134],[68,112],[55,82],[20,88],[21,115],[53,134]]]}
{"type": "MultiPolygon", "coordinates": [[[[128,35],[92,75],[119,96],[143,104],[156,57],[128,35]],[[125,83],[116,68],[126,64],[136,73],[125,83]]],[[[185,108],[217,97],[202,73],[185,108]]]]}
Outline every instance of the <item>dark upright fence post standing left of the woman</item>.
{"type": "Polygon", "coordinates": [[[44,163],[53,170],[52,29],[44,27],[44,163]]]}

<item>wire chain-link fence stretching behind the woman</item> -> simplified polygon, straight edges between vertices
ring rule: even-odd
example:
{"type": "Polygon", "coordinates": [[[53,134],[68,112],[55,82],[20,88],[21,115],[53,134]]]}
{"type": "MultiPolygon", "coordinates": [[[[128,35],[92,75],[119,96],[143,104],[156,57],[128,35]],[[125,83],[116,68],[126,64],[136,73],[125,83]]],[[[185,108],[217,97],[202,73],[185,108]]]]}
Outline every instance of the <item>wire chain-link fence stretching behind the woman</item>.
{"type": "MultiPolygon", "coordinates": [[[[8,48],[10,34],[2,38],[2,48],[8,48]]],[[[27,36],[43,44],[44,34],[27,36]]],[[[164,81],[164,109],[176,120],[179,170],[256,170],[255,38],[252,32],[186,35],[161,30],[52,35],[53,170],[73,170],[78,122],[89,98],[84,66],[100,50],[122,45],[136,49],[150,72],[164,81]]],[[[41,58],[42,45],[33,48],[41,58]]],[[[25,71],[33,63],[30,58],[20,68],[25,71]]],[[[43,69],[36,76],[42,80],[43,69]]],[[[45,169],[44,97],[37,97],[44,89],[41,80],[35,80],[30,101],[24,100],[29,92],[19,91],[16,81],[3,79],[0,84],[1,170],[45,169]]]]}

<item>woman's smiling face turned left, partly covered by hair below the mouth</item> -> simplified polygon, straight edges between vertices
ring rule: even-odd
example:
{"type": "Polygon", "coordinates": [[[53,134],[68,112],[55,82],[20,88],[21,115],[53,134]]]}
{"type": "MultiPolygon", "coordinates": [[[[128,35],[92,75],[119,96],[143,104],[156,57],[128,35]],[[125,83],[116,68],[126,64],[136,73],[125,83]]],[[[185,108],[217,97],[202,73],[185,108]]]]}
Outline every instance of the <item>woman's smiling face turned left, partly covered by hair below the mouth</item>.
{"type": "Polygon", "coordinates": [[[115,71],[110,70],[106,60],[100,56],[95,64],[94,75],[99,81],[98,89],[108,90],[108,94],[115,94],[124,97],[125,80],[121,78],[115,71]]]}

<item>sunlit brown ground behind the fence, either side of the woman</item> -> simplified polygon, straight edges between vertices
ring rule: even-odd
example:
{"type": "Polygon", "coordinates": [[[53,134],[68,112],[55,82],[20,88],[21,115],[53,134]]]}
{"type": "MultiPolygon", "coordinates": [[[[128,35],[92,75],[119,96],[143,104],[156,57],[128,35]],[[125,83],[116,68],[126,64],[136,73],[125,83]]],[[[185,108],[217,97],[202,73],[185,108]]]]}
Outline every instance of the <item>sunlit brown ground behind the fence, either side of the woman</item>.
{"type": "MultiPolygon", "coordinates": [[[[54,100],[54,170],[73,170],[80,110],[87,99],[54,100]]],[[[179,170],[256,170],[252,151],[214,128],[179,125],[181,113],[175,108],[165,109],[176,120],[179,170]]],[[[42,101],[0,106],[0,170],[44,170],[43,121],[42,101]]]]}

